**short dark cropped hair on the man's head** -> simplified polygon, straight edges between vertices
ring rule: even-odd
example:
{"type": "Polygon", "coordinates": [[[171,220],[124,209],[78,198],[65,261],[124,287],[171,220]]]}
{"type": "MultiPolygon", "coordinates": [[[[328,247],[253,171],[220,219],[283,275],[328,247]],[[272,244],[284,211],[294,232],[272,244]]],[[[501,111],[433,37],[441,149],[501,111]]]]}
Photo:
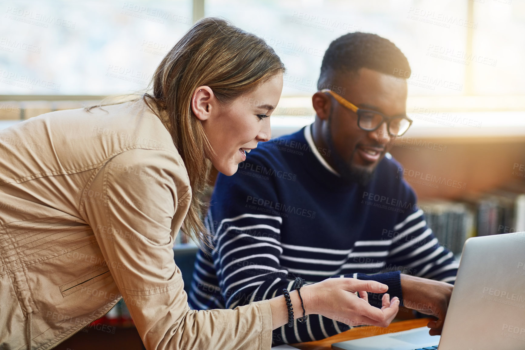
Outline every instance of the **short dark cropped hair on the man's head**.
{"type": "Polygon", "coordinates": [[[371,33],[348,33],[333,40],[324,53],[317,88],[331,84],[334,73],[355,73],[360,68],[401,78],[411,74],[405,55],[390,40],[371,33]]]}

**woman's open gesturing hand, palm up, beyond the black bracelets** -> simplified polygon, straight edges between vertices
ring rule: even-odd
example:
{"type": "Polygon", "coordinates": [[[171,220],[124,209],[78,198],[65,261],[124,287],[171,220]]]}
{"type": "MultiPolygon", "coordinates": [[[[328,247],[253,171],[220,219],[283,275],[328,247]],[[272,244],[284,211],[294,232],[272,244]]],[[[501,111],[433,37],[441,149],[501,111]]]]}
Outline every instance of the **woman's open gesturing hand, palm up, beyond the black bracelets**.
{"type": "Polygon", "coordinates": [[[385,293],[388,286],[376,281],[360,281],[344,277],[326,279],[324,281],[306,285],[303,290],[308,290],[306,305],[307,313],[320,314],[350,326],[373,325],[387,327],[398,311],[399,299],[390,300],[388,294],[383,295],[383,307],[374,307],[368,302],[370,293],[385,293]],[[359,292],[359,296],[355,294],[359,292]]]}

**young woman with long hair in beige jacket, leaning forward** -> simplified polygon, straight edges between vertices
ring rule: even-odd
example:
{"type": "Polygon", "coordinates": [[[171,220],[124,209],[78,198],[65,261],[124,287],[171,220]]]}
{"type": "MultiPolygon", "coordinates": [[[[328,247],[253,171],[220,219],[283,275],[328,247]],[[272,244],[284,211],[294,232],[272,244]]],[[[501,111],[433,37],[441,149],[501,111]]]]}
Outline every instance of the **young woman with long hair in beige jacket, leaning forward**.
{"type": "MultiPolygon", "coordinates": [[[[291,315],[285,297],[190,310],[172,246],[181,225],[207,242],[198,194],[208,161],[231,175],[270,139],[284,70],[264,40],[205,18],[141,98],[1,131],[0,348],[56,346],[121,297],[148,349],[269,348],[291,315]]],[[[365,292],[386,288],[329,279],[301,296],[307,314],[386,326],[398,300],[385,294],[379,309],[365,292]]],[[[290,303],[303,316],[297,291],[290,303]]]]}

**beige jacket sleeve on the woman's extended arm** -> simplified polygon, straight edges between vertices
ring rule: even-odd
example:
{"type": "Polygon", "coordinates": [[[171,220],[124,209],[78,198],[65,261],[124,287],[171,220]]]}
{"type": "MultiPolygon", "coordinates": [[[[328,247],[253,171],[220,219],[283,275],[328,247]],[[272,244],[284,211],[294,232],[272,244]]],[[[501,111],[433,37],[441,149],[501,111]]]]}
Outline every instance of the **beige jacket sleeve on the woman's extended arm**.
{"type": "Polygon", "coordinates": [[[178,155],[131,149],[98,171],[86,196],[95,232],[147,349],[269,349],[268,301],[194,311],[173,260],[171,232],[187,212],[187,175],[178,155]],[[91,191],[91,192],[90,192],[91,191]],[[184,201],[186,199],[186,201],[184,201]]]}

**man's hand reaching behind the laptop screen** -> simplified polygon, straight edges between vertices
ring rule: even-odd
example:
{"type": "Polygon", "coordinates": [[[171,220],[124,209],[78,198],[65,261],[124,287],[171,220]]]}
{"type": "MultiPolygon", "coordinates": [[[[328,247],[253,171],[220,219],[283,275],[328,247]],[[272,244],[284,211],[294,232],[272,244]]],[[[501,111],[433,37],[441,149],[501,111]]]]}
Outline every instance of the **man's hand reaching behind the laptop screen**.
{"type": "Polygon", "coordinates": [[[441,334],[453,287],[446,282],[401,274],[404,306],[438,318],[427,324],[430,335],[441,334]]]}

